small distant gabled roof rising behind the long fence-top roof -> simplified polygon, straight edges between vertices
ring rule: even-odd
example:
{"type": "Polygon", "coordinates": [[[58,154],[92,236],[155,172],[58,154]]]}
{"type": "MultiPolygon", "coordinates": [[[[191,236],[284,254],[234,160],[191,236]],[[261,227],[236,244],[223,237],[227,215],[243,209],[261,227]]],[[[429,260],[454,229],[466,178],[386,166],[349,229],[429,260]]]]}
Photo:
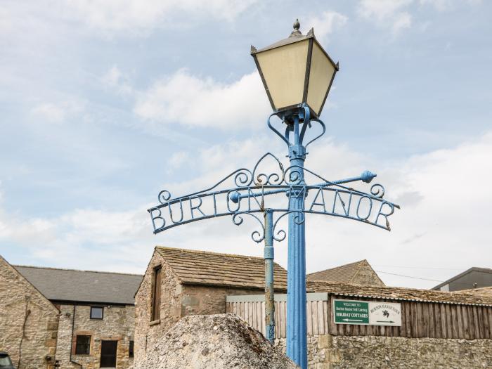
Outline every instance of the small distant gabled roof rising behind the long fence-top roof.
{"type": "Polygon", "coordinates": [[[324,282],[347,283],[349,285],[373,285],[384,287],[373,267],[367,260],[356,261],[355,263],[337,266],[335,268],[317,271],[307,275],[308,280],[321,280],[324,282]]]}

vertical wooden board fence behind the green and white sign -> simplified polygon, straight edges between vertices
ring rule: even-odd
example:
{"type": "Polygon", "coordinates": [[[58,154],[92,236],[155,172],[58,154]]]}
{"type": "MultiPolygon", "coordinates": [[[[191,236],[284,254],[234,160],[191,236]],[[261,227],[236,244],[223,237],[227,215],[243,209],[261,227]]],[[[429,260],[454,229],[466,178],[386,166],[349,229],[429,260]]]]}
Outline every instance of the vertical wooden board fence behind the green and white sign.
{"type": "MultiPolygon", "coordinates": [[[[287,295],[275,296],[275,334],[285,338],[287,295]]],[[[492,339],[492,307],[440,302],[413,302],[391,299],[364,299],[334,296],[326,292],[307,294],[308,335],[430,337],[492,339]],[[333,299],[396,302],[401,304],[401,327],[335,324],[333,299]]],[[[226,311],[235,313],[265,334],[264,295],[228,296],[226,311]]]]}

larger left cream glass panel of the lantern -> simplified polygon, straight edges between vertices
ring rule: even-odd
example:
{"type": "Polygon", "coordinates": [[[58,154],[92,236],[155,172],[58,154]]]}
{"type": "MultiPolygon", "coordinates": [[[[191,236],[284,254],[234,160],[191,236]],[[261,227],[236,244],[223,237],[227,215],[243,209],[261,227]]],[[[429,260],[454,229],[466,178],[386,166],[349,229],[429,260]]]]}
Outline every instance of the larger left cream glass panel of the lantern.
{"type": "Polygon", "coordinates": [[[309,40],[257,53],[276,110],[302,103],[309,40]]]}

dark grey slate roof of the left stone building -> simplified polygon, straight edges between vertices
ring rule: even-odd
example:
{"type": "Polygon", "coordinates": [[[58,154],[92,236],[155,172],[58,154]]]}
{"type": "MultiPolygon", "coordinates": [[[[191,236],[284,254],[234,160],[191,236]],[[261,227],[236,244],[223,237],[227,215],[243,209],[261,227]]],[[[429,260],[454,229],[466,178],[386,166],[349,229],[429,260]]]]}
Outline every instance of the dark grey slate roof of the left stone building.
{"type": "Polygon", "coordinates": [[[102,271],[14,265],[24,278],[51,301],[134,304],[143,276],[102,271]]]}

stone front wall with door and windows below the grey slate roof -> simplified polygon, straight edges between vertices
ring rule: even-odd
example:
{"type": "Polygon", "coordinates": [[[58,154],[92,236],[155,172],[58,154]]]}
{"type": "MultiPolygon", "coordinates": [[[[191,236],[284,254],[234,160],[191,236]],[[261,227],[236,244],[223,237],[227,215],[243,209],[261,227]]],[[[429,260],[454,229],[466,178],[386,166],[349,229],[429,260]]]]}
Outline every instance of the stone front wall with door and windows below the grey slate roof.
{"type": "Polygon", "coordinates": [[[60,311],[56,355],[56,359],[61,361],[60,368],[79,369],[80,365],[83,365],[84,369],[99,368],[101,342],[104,340],[118,342],[116,368],[132,367],[134,358],[129,357],[129,344],[131,340],[134,340],[134,306],[105,306],[102,320],[91,319],[91,306],[61,305],[60,311]],[[89,355],[75,354],[77,335],[91,336],[89,355]],[[72,354],[71,357],[70,354],[72,354]]]}

